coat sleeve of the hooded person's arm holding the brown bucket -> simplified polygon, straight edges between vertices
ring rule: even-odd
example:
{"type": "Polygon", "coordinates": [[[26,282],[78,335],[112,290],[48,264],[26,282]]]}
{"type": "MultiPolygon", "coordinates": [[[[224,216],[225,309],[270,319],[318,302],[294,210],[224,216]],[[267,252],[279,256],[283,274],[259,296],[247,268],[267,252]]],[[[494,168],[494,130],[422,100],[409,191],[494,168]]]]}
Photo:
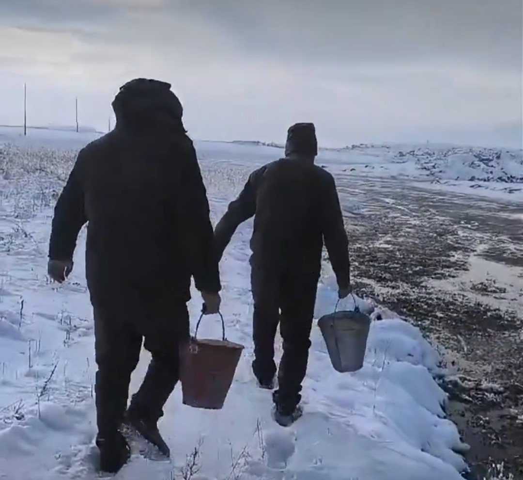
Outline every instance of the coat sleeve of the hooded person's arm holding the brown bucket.
{"type": "Polygon", "coordinates": [[[200,292],[218,293],[221,290],[220,272],[209,216],[209,200],[192,144],[183,155],[180,173],[178,210],[195,286],[200,292]]]}

